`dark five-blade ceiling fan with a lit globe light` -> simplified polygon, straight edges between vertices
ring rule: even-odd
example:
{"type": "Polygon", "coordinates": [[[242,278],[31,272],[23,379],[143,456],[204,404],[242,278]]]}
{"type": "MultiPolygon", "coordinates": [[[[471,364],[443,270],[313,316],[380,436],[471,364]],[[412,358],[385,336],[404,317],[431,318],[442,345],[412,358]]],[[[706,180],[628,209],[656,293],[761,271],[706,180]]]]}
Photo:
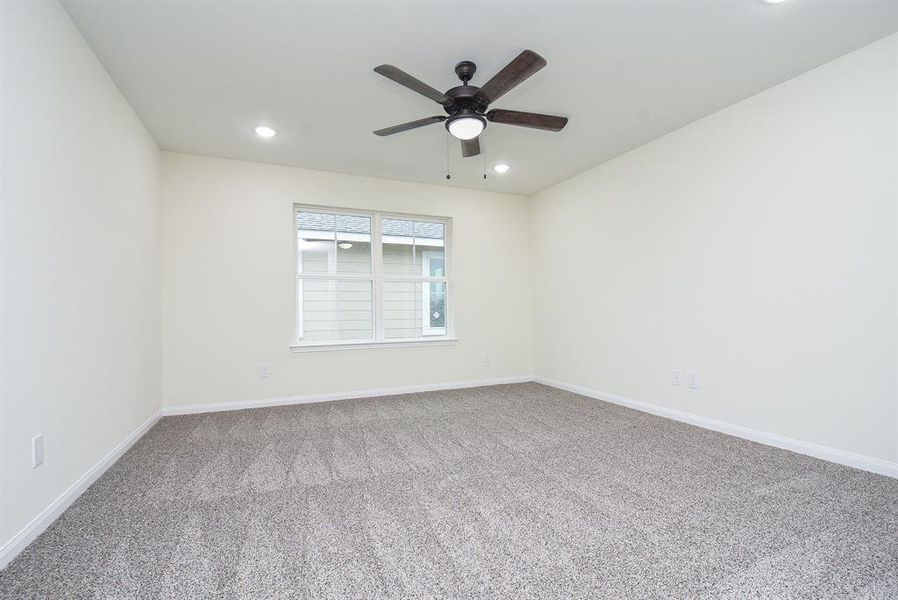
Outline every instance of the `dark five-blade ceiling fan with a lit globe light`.
{"type": "Polygon", "coordinates": [[[533,50],[524,50],[517,58],[505,65],[505,68],[496,73],[492,79],[483,84],[482,87],[477,87],[468,84],[477,71],[477,65],[469,60],[465,60],[455,65],[455,74],[461,79],[462,84],[445,92],[430,87],[423,81],[412,77],[393,65],[374,67],[375,73],[379,73],[387,79],[392,79],[396,83],[404,85],[422,96],[427,96],[438,104],[442,104],[447,115],[425,117],[417,121],[378,129],[374,134],[380,136],[393,135],[394,133],[445,121],[446,129],[449,133],[461,140],[462,156],[468,157],[480,154],[480,140],[478,136],[486,128],[487,122],[532,127],[546,131],[561,131],[567,125],[567,117],[555,117],[517,110],[488,110],[490,104],[545,66],[546,59],[533,50]]]}

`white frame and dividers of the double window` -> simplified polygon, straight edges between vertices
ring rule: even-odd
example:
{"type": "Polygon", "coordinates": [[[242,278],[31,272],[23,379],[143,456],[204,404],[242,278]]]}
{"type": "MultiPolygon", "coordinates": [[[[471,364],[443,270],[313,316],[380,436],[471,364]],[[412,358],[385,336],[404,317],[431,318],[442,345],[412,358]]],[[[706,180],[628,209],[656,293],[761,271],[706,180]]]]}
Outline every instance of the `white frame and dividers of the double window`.
{"type": "MultiPolygon", "coordinates": [[[[394,212],[379,211],[360,211],[355,209],[346,209],[337,206],[321,206],[308,204],[293,205],[292,219],[292,243],[295,277],[294,290],[296,294],[295,319],[296,338],[291,344],[294,352],[311,352],[321,350],[347,350],[352,348],[372,348],[372,347],[397,347],[397,346],[438,346],[454,344],[457,338],[454,336],[454,319],[452,307],[454,305],[452,294],[454,285],[452,283],[452,267],[451,267],[451,246],[452,246],[452,219],[450,217],[436,217],[432,215],[406,214],[394,212]],[[370,275],[333,275],[330,273],[302,273],[300,271],[300,251],[299,239],[297,237],[297,220],[300,212],[315,212],[322,214],[339,214],[354,215],[368,217],[371,219],[371,274],[370,275]],[[422,271],[421,275],[390,275],[387,281],[414,281],[421,283],[422,290],[422,308],[424,313],[422,316],[422,337],[405,338],[405,339],[386,339],[384,337],[384,308],[383,308],[383,236],[381,236],[381,221],[384,219],[402,219],[402,220],[418,220],[430,223],[441,223],[443,225],[443,272],[445,277],[429,276],[429,259],[426,254],[422,254],[422,271]],[[303,320],[302,320],[302,281],[324,280],[324,281],[371,281],[372,293],[372,319],[374,322],[372,339],[367,340],[334,340],[322,342],[306,342],[303,341],[303,320]],[[430,320],[428,317],[430,312],[430,283],[442,282],[446,284],[446,326],[445,327],[429,327],[430,320]],[[426,300],[426,302],[424,302],[426,300]]],[[[335,240],[336,242],[336,240],[335,240]]],[[[426,250],[424,252],[427,252],[426,250]]]]}

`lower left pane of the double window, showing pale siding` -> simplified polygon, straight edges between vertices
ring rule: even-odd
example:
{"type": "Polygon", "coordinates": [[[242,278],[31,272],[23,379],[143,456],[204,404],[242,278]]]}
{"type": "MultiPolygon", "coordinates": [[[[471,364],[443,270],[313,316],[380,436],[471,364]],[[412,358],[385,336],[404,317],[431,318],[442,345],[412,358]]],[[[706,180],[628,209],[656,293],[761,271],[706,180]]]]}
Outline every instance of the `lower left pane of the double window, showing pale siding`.
{"type": "Polygon", "coordinates": [[[302,341],[374,338],[370,281],[299,280],[302,341]]]}

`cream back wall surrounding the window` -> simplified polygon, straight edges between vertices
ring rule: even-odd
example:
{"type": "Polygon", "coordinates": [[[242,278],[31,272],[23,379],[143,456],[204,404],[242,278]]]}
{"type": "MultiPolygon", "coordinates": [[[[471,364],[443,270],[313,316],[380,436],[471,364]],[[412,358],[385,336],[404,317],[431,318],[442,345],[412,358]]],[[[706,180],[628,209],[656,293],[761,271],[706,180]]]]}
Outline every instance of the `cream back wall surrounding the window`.
{"type": "Polygon", "coordinates": [[[164,152],[162,202],[166,406],[531,374],[525,198],[164,152]],[[294,203],[451,217],[458,342],[292,352],[294,203]]]}

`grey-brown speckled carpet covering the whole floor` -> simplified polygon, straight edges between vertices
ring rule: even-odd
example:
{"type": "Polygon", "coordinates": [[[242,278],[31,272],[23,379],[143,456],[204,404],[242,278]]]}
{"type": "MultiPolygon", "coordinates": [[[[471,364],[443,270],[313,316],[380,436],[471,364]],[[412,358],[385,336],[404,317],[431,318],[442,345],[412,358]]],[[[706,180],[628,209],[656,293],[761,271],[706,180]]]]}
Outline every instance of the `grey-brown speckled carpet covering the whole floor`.
{"type": "Polygon", "coordinates": [[[537,384],[163,419],[0,598],[898,598],[898,480],[537,384]]]}

